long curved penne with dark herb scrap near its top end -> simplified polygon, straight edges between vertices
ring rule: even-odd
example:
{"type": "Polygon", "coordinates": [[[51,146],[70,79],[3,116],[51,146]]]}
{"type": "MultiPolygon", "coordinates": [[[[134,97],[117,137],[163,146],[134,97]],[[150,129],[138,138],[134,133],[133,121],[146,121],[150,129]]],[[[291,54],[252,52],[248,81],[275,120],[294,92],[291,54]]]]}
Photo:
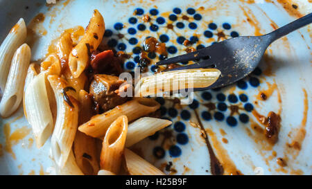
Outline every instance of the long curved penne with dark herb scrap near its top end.
{"type": "Polygon", "coordinates": [[[58,109],[51,137],[51,151],[55,162],[63,168],[77,131],[78,100],[76,100],[76,92],[64,79],[58,75],[49,75],[48,80],[54,91],[58,109]]]}

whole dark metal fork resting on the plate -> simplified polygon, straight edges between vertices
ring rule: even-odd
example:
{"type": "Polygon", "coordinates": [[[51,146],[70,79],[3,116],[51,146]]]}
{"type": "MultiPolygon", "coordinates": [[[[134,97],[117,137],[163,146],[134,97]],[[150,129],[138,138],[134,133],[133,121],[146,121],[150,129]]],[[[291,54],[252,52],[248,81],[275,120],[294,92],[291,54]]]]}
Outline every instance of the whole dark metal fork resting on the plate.
{"type": "Polygon", "coordinates": [[[258,66],[266,48],[268,48],[272,42],[294,30],[311,24],[311,22],[312,13],[266,35],[234,37],[192,53],[159,61],[156,63],[156,66],[195,60],[196,63],[194,64],[177,67],[168,71],[216,68],[221,72],[218,80],[209,87],[197,88],[193,89],[193,91],[225,87],[252,73],[258,66]]]}

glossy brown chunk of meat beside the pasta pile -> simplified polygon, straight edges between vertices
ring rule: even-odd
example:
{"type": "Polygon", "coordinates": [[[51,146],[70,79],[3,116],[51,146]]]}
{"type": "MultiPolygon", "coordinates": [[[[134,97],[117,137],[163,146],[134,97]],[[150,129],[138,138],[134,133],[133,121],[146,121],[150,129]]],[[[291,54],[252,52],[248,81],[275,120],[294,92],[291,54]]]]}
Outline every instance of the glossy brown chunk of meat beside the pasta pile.
{"type": "Polygon", "coordinates": [[[115,92],[124,82],[113,75],[94,75],[94,80],[90,84],[90,93],[96,105],[101,107],[101,111],[107,111],[127,101],[127,98],[121,98],[115,92]]]}

